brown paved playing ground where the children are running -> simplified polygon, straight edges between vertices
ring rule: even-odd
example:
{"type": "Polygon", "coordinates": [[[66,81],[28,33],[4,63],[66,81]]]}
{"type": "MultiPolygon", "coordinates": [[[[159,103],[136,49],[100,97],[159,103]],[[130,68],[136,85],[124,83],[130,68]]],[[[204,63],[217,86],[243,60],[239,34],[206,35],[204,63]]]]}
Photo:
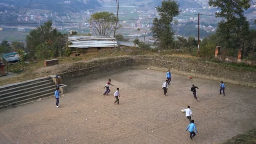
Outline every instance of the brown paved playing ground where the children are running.
{"type": "Polygon", "coordinates": [[[256,128],[256,88],[226,83],[224,97],[215,81],[172,74],[164,96],[165,72],[151,69],[76,80],[60,108],[51,97],[0,111],[0,144],[217,144],[256,128]],[[109,78],[114,86],[103,96],[109,78]],[[198,130],[193,140],[181,113],[188,105],[198,130]]]}

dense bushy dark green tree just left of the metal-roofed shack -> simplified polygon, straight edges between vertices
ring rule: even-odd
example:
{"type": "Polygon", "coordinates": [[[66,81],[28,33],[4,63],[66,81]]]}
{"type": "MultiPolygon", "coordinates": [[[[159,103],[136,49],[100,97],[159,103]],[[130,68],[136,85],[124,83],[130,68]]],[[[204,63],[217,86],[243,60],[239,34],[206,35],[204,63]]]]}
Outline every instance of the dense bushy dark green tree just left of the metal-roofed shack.
{"type": "Polygon", "coordinates": [[[53,29],[52,22],[47,21],[40,27],[33,29],[27,35],[27,49],[32,57],[51,58],[64,53],[66,35],[53,29]],[[42,49],[40,49],[42,48],[42,49]],[[42,54],[39,56],[39,54],[42,54]]]}

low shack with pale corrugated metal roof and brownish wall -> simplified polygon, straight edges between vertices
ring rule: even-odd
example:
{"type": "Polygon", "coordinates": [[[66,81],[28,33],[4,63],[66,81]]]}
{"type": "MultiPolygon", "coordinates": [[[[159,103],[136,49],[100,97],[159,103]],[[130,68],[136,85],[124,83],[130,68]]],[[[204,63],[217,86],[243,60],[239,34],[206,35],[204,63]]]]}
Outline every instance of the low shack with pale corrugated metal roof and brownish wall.
{"type": "Polygon", "coordinates": [[[71,48],[70,56],[80,56],[89,52],[97,52],[101,49],[108,50],[118,47],[117,41],[113,36],[69,36],[68,42],[71,48]]]}

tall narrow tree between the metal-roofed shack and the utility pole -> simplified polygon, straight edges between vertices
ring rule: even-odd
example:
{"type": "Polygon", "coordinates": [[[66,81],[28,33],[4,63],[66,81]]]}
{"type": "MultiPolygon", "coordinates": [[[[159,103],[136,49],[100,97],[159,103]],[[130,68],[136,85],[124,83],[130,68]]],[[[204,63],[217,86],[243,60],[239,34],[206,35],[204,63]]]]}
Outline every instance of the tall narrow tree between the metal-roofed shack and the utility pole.
{"type": "Polygon", "coordinates": [[[155,18],[153,20],[153,27],[151,29],[155,43],[161,47],[167,49],[173,43],[173,29],[171,22],[174,16],[178,16],[179,3],[176,0],[163,0],[162,5],[156,8],[160,19],[155,18]]]}

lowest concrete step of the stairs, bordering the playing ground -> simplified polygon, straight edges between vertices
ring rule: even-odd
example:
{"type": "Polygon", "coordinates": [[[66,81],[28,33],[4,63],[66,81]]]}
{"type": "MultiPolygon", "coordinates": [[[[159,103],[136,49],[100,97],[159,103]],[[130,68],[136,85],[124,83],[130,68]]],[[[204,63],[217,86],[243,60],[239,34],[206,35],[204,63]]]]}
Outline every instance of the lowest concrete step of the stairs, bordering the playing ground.
{"type": "Polygon", "coordinates": [[[7,108],[7,107],[16,107],[16,106],[19,106],[21,104],[27,104],[27,103],[30,103],[30,102],[33,102],[33,101],[37,101],[37,99],[39,99],[39,98],[45,98],[45,97],[50,97],[50,96],[54,96],[54,91],[51,92],[51,93],[44,93],[44,94],[39,95],[39,96],[31,97],[29,99],[23,99],[23,100],[20,100],[20,101],[15,101],[15,102],[9,103],[9,104],[0,105],[0,109],[4,109],[4,108],[7,108]]]}

